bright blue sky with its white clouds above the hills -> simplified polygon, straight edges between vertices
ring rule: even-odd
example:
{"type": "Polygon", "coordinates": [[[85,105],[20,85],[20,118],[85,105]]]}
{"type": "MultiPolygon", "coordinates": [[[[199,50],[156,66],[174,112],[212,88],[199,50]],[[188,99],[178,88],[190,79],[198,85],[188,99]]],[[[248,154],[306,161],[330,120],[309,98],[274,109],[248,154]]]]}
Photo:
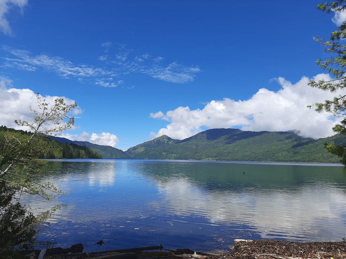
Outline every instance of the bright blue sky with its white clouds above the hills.
{"type": "Polygon", "coordinates": [[[338,22],[318,3],[0,0],[0,124],[40,93],[79,105],[63,136],[122,150],[218,127],[331,135],[305,108],[329,96],[306,85],[338,22]]]}

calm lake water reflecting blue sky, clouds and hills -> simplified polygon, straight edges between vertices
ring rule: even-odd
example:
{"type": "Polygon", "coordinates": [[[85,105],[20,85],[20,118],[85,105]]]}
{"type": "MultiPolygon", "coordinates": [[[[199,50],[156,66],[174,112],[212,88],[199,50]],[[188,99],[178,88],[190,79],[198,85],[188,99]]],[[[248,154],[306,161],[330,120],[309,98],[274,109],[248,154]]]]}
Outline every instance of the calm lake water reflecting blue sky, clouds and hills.
{"type": "Polygon", "coordinates": [[[49,161],[66,204],[40,240],[85,251],[162,245],[230,251],[234,238],[341,241],[346,170],[335,164],[150,160],[49,161]],[[245,174],[243,173],[245,172],[245,174]],[[103,238],[101,248],[93,243],[103,238]]]}

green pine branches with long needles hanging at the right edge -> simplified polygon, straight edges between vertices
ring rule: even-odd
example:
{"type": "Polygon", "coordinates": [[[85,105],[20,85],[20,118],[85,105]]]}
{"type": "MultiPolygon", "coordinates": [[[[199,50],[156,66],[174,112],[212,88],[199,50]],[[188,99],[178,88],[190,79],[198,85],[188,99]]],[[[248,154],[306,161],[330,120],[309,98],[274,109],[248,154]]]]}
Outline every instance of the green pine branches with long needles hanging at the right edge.
{"type": "MultiPolygon", "coordinates": [[[[343,12],[346,10],[346,0],[337,0],[329,3],[320,3],[317,8],[321,11],[329,13],[331,10],[335,12],[343,12]]],[[[328,71],[331,76],[330,80],[321,79],[319,81],[311,80],[309,85],[318,89],[336,93],[333,99],[326,99],[322,103],[314,103],[308,107],[315,107],[317,112],[328,112],[337,117],[343,117],[340,123],[333,127],[333,131],[346,135],[346,22],[333,31],[330,40],[314,38],[315,41],[325,47],[325,52],[330,54],[330,58],[316,60],[317,65],[328,71]]],[[[346,165],[346,146],[325,144],[327,150],[341,158],[343,164],[346,165]]]]}

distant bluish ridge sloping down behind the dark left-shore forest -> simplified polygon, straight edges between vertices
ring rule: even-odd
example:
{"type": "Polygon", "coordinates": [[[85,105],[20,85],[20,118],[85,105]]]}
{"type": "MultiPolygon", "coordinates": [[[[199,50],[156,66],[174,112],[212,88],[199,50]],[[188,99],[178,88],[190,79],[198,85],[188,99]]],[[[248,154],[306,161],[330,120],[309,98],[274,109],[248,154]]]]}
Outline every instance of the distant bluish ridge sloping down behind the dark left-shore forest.
{"type": "Polygon", "coordinates": [[[127,159],[129,156],[124,153],[124,151],[112,147],[112,146],[103,146],[98,144],[93,144],[87,141],[72,141],[64,137],[49,137],[53,140],[56,140],[60,143],[76,144],[80,146],[90,147],[93,150],[96,150],[103,158],[118,158],[118,159],[127,159]]]}

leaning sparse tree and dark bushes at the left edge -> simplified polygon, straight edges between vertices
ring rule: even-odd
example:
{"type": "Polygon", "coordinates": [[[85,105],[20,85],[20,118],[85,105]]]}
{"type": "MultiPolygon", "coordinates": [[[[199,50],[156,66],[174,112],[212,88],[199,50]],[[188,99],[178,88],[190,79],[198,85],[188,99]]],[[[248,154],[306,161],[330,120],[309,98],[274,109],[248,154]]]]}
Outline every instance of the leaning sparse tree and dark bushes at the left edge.
{"type": "Polygon", "coordinates": [[[45,145],[43,136],[72,127],[74,118],[68,114],[76,104],[67,105],[63,98],[57,98],[54,104],[49,105],[39,94],[37,104],[38,110],[30,107],[35,114],[34,122],[15,121],[31,132],[1,132],[0,256],[13,249],[26,248],[35,241],[35,226],[39,218],[34,217],[30,207],[20,203],[21,196],[38,194],[51,199],[53,194],[61,194],[52,183],[38,180],[41,167],[45,165],[38,159],[38,154],[49,152],[50,147],[45,145]]]}

